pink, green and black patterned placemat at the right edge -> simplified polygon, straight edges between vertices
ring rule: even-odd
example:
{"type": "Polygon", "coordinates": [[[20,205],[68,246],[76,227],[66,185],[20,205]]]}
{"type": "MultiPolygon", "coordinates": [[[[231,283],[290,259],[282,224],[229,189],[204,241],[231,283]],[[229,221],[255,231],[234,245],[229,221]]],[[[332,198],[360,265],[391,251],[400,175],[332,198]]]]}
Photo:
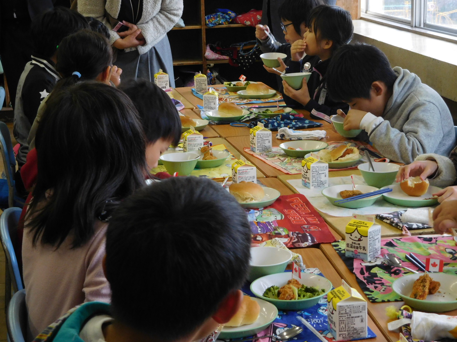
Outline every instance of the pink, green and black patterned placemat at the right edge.
{"type": "MultiPolygon", "coordinates": [[[[417,269],[405,258],[405,254],[413,253],[425,263],[425,258],[440,259],[446,267],[457,267],[457,247],[452,236],[408,236],[403,238],[381,239],[381,255],[378,258],[364,262],[361,259],[346,258],[345,241],[332,244],[347,268],[356,275],[361,289],[372,303],[385,301],[401,301],[392,290],[392,283],[409,271],[388,265],[384,254],[395,254],[402,260],[402,265],[417,269]]],[[[454,274],[453,271],[449,272],[454,274]]]]}

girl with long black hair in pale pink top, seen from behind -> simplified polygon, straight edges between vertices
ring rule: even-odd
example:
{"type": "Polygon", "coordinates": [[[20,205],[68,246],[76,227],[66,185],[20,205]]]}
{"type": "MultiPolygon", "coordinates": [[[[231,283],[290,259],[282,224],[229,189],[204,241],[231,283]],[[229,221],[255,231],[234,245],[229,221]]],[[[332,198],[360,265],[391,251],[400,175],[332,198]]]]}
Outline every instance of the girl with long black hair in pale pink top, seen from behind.
{"type": "Polygon", "coordinates": [[[102,270],[107,222],[145,175],[138,114],[122,91],[103,83],[53,93],[36,148],[38,176],[22,239],[32,338],[75,305],[110,300],[102,270]]]}

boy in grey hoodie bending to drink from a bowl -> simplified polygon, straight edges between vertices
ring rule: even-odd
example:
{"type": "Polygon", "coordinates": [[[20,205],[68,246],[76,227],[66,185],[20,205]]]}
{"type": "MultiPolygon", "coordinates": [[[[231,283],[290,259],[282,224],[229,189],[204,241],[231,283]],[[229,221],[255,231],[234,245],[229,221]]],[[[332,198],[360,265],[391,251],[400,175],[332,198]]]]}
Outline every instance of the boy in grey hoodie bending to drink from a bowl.
{"type": "Polygon", "coordinates": [[[420,78],[390,66],[377,47],[340,47],[329,65],[329,95],[351,106],[345,130],[364,130],[382,155],[404,164],[420,154],[448,156],[455,146],[451,113],[441,96],[420,78]]]}

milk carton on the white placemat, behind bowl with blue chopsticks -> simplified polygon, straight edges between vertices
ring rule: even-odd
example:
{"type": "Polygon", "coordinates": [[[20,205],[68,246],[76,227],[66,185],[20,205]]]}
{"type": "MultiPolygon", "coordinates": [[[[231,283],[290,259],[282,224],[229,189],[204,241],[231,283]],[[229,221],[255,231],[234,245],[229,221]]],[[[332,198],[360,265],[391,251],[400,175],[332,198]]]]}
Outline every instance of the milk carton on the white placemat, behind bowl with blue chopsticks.
{"type": "Polygon", "coordinates": [[[319,160],[319,156],[312,153],[302,161],[302,185],[309,189],[319,189],[329,186],[329,164],[319,160]]]}

